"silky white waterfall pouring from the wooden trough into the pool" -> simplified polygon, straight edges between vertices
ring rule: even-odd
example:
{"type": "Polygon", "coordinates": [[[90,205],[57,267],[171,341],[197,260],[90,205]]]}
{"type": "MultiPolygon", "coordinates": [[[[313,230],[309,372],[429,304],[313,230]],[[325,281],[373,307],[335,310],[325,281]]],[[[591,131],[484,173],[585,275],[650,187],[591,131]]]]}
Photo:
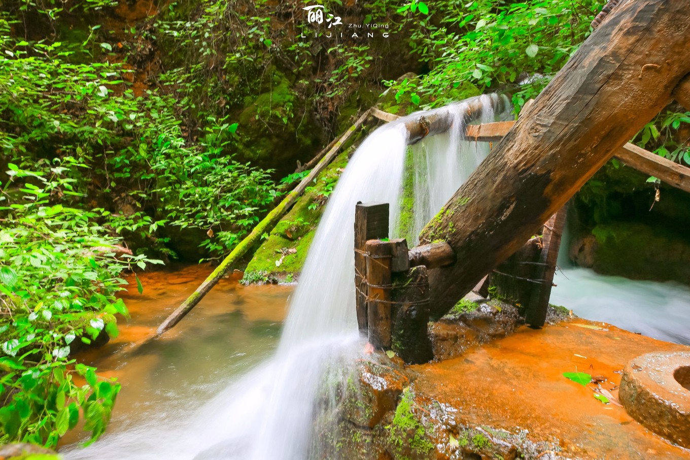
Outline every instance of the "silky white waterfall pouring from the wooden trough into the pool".
{"type": "MultiPolygon", "coordinates": [[[[493,121],[497,96],[480,96],[480,102],[483,110],[477,121],[493,121]]],[[[451,131],[431,136],[411,149],[415,171],[417,167],[424,171],[415,172],[411,207],[414,235],[489,151],[488,145],[460,140],[467,112],[464,103],[438,110],[453,119],[451,131]]],[[[154,416],[139,417],[130,425],[121,422],[117,432],[89,448],[68,448],[64,452],[66,459],[317,457],[319,442],[313,439],[317,430],[313,420],[319,388],[324,381],[342,375],[342,371],[335,375],[325,372],[352,363],[363,345],[357,333],[354,305],[355,204],[391,203],[391,236],[397,236],[400,215],[395,204],[400,203],[403,192],[406,140],[404,124],[392,122],[378,128],[357,148],[328,201],[272,357],[241,378],[233,378],[231,371],[223,372],[221,383],[226,386],[220,392],[213,383],[215,377],[208,378],[210,387],[201,391],[201,397],[194,392],[176,395],[171,399],[172,407],[159,408],[154,416]],[[215,395],[199,407],[199,400],[214,391],[215,395]]],[[[224,326],[219,323],[218,327],[224,326]]],[[[266,340],[273,340],[273,335],[268,334],[266,340]]],[[[218,338],[217,342],[204,341],[200,346],[227,347],[221,363],[232,366],[228,356],[234,356],[237,350],[223,342],[218,338]]],[[[257,356],[265,356],[265,348],[243,362],[255,363],[257,356]]],[[[195,350],[189,348],[188,352],[194,354],[195,350]]],[[[246,365],[239,368],[246,370],[246,365]]],[[[186,367],[181,367],[180,372],[185,371],[186,367]]],[[[168,374],[166,378],[176,376],[179,374],[168,374]]],[[[156,383],[165,387],[160,381],[156,383]]]]}

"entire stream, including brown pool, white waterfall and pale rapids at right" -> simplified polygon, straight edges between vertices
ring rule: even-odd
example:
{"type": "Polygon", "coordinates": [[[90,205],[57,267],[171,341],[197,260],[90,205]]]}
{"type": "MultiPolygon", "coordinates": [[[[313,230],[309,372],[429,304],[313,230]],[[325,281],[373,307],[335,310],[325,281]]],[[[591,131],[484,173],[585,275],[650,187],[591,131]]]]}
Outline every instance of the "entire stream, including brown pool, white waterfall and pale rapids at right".
{"type": "MultiPolygon", "coordinates": [[[[478,122],[506,115],[493,113],[497,96],[480,98],[478,122]]],[[[413,235],[489,151],[488,144],[460,140],[464,103],[437,110],[452,117],[453,128],[409,149],[416,163],[413,235]]],[[[355,204],[391,203],[391,237],[397,236],[406,136],[404,124],[391,122],[357,148],[328,200],[296,289],[244,287],[231,277],[175,329],[132,349],[128,344],[150,336],[208,269],[145,274],[144,296],[126,295],[132,320],[121,336],[85,357],[103,376],[117,376],[123,384],[112,424],[88,448],[76,437],[64,439],[65,459],[321,458],[328,441],[319,433],[329,427],[315,423],[317,396],[337,403],[337,389],[346,385],[348,367],[364,348],[354,307],[355,204]]],[[[673,287],[664,297],[660,292],[668,288],[658,283],[626,284],[577,269],[564,274],[569,279],[555,281],[552,303],[657,338],[688,340],[679,318],[689,316],[689,289],[673,287]],[[669,303],[674,296],[676,302],[669,303]],[[677,315],[659,314],[662,304],[677,315]]]]}

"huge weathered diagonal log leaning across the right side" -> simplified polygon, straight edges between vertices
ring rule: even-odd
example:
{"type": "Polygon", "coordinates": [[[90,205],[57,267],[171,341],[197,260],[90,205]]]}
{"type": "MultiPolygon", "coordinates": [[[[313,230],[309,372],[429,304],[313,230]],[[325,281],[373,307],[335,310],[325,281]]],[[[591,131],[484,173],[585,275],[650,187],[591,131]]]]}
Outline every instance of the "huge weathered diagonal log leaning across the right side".
{"type": "Polygon", "coordinates": [[[690,73],[686,0],[627,0],[526,109],[420,242],[457,262],[429,272],[433,314],[447,312],[558,211],[690,73]]]}

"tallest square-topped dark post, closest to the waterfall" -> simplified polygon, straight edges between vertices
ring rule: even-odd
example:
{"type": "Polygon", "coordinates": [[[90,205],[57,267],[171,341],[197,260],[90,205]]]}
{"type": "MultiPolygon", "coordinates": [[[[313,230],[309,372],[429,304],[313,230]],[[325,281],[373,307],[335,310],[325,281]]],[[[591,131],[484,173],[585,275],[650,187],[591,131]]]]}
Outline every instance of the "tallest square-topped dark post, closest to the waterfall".
{"type": "Polygon", "coordinates": [[[357,203],[355,207],[355,305],[360,334],[366,333],[366,240],[388,238],[388,203],[357,203]]]}

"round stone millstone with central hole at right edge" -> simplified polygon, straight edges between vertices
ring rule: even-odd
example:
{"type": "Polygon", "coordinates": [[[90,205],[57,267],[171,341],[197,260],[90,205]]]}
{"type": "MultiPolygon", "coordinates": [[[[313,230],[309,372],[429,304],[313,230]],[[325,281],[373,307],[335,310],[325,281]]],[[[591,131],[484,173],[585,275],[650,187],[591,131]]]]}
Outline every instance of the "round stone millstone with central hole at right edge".
{"type": "Polygon", "coordinates": [[[655,352],[631,360],[620,402],[653,432],[690,448],[690,352],[655,352]]]}

